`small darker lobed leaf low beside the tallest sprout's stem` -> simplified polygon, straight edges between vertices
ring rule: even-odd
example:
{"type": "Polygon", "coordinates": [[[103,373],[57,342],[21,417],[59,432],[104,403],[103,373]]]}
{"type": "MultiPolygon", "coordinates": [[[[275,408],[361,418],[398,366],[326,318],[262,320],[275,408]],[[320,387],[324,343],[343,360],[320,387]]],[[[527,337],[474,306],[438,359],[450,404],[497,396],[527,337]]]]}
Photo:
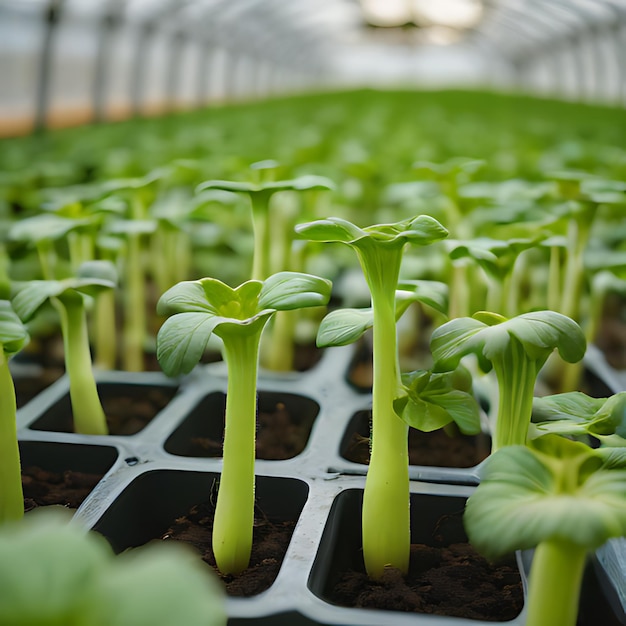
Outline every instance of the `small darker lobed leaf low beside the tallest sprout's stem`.
{"type": "Polygon", "coordinates": [[[466,435],[480,432],[480,408],[463,376],[418,370],[403,374],[402,384],[407,395],[396,400],[394,409],[409,426],[430,432],[455,422],[466,435]]]}

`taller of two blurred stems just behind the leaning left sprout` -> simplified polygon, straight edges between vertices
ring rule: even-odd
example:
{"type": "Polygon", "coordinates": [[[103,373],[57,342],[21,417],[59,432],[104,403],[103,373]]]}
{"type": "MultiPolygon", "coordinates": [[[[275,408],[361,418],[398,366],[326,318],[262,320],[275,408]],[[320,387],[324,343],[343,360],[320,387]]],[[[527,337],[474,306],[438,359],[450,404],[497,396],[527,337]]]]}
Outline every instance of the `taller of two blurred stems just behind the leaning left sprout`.
{"type": "Polygon", "coordinates": [[[129,372],[141,372],[144,369],[146,285],[141,264],[141,238],[135,233],[130,233],[127,239],[125,275],[122,366],[129,372]]]}

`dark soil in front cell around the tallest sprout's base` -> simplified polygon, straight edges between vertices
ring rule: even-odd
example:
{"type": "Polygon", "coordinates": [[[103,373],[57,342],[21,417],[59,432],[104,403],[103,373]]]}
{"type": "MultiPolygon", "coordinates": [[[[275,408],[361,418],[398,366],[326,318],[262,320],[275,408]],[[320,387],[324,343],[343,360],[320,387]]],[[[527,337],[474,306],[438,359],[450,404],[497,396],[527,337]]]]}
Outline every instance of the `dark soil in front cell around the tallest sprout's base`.
{"type": "Polygon", "coordinates": [[[461,515],[441,518],[430,545],[411,545],[409,572],[389,568],[380,580],[365,569],[341,572],[329,598],[341,606],[507,621],[522,610],[515,559],[487,561],[467,543],[461,515]]]}

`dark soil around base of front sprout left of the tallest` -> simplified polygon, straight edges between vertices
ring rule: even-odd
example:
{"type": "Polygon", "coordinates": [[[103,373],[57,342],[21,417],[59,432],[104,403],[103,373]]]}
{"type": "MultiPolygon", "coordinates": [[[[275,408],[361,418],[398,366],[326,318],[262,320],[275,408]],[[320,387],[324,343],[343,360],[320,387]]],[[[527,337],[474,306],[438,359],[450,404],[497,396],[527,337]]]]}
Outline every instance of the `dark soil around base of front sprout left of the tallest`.
{"type": "Polygon", "coordinates": [[[184,541],[198,550],[202,560],[215,569],[230,596],[253,596],[268,589],[278,576],[295,521],[272,521],[255,511],[250,565],[241,574],[225,576],[217,570],[211,545],[214,514],[210,501],[194,505],[174,521],[162,539],[184,541]]]}

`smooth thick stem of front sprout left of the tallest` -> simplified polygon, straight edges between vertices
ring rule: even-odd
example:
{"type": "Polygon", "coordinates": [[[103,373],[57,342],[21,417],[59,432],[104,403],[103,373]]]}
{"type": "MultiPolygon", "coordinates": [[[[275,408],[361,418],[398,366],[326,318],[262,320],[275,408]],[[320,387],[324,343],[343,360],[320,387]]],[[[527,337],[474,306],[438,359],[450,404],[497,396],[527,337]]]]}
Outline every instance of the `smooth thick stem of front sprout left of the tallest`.
{"type": "Polygon", "coordinates": [[[213,552],[223,574],[238,574],[248,567],[252,550],[260,332],[247,336],[229,334],[222,338],[228,366],[228,390],[224,463],[213,523],[213,552]]]}

